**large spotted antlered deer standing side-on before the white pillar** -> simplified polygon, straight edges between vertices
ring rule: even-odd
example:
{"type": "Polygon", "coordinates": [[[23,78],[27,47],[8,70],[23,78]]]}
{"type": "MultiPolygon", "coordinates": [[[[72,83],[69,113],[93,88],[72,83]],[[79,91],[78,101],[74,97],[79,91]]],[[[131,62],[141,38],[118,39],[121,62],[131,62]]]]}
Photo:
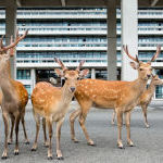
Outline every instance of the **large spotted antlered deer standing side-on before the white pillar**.
{"type": "Polygon", "coordinates": [[[126,54],[135,62],[130,62],[133,68],[138,71],[138,78],[133,82],[108,82],[100,79],[83,79],[78,83],[75,98],[80,108],[75,110],[71,116],[71,135],[72,140],[77,142],[75,138],[74,122],[79,116],[79,124],[88,141],[88,145],[93,146],[93,141],[89,138],[85,127],[86,116],[91,105],[95,103],[98,106],[105,109],[115,109],[117,115],[118,138],[117,146],[123,148],[122,143],[122,123],[123,113],[126,114],[127,142],[134,146],[130,139],[130,111],[137,105],[139,96],[145,91],[148,79],[151,77],[152,67],[151,61],[154,61],[159,55],[161,48],[158,47],[156,53],[150,62],[143,63],[128,53],[127,46],[123,47],[126,54]]]}

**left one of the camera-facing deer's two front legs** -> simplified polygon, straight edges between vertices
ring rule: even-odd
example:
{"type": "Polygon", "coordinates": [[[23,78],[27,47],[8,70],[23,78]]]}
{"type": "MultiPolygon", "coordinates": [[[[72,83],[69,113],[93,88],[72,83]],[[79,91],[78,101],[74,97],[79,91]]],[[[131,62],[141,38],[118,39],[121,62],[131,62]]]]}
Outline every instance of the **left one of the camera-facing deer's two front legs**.
{"type": "Polygon", "coordinates": [[[48,148],[48,160],[52,160],[52,120],[47,120],[48,129],[49,129],[49,148],[48,148]]]}

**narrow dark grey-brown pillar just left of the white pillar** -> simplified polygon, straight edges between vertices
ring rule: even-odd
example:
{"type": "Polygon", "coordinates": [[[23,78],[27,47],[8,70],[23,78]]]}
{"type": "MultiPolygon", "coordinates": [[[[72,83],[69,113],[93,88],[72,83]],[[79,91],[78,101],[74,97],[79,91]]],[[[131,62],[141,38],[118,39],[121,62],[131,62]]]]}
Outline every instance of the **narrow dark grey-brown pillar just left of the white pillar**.
{"type": "Polygon", "coordinates": [[[108,79],[116,80],[116,1],[108,0],[108,79]]]}

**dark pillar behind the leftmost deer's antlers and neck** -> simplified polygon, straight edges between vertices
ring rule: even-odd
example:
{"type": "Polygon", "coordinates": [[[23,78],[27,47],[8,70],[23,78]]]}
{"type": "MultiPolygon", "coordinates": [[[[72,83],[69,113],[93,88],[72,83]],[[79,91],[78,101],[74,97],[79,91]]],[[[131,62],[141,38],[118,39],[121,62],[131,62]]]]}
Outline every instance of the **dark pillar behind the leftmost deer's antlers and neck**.
{"type": "MultiPolygon", "coordinates": [[[[5,41],[10,43],[10,37],[13,35],[15,38],[16,34],[16,0],[5,0],[5,41]]],[[[10,60],[11,64],[11,76],[16,79],[16,51],[13,58],[10,60]]]]}

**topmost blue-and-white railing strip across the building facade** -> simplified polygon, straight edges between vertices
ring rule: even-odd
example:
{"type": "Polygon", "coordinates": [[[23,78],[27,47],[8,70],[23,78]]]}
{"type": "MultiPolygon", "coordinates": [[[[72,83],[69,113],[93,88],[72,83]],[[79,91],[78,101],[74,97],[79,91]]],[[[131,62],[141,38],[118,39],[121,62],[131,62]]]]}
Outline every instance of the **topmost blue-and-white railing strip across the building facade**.
{"type": "MultiPolygon", "coordinates": [[[[5,11],[0,10],[0,15],[4,16],[5,11]]],[[[74,10],[17,10],[17,17],[20,16],[54,16],[54,15],[104,15],[106,16],[106,9],[74,9],[74,10]]],[[[121,10],[116,10],[116,15],[121,16],[121,10]]],[[[162,10],[138,10],[138,16],[163,16],[162,10]]]]}

